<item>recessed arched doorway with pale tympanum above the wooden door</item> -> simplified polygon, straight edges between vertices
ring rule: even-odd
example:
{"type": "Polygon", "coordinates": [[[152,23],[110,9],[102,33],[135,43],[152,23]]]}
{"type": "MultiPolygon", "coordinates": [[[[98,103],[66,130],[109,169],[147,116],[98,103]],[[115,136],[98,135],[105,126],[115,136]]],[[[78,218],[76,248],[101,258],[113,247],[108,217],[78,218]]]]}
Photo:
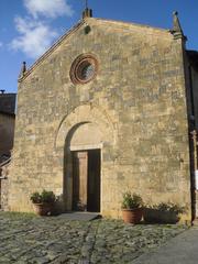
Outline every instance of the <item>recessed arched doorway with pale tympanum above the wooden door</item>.
{"type": "Polygon", "coordinates": [[[96,123],[78,123],[67,134],[65,147],[66,198],[72,210],[100,212],[101,131],[96,123]]]}

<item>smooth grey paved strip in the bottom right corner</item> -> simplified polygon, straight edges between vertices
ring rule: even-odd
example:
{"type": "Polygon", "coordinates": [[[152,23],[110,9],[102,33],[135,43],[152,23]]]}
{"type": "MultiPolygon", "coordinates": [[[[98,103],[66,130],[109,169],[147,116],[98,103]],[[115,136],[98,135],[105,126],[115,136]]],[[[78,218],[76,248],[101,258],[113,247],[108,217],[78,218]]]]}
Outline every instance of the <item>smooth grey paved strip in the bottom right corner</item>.
{"type": "Polygon", "coordinates": [[[132,264],[197,264],[198,228],[179,234],[155,252],[140,256],[132,264]]]}

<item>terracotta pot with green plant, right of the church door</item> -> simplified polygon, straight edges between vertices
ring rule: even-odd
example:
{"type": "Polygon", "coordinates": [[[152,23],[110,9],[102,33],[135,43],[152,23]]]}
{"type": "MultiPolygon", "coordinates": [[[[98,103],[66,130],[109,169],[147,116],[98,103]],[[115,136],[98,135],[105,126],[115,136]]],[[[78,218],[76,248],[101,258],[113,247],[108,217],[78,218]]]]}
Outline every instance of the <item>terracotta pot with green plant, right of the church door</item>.
{"type": "Polygon", "coordinates": [[[143,200],[136,194],[125,191],[122,200],[122,217],[127,223],[139,223],[143,215],[143,200]]]}

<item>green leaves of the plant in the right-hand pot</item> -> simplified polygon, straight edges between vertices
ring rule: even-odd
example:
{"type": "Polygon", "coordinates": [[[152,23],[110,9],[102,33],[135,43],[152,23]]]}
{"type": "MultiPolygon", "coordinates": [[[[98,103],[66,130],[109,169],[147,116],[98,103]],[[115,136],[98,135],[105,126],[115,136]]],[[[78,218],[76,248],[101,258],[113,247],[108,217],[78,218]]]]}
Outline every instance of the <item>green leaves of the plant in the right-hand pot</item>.
{"type": "Polygon", "coordinates": [[[143,206],[142,198],[136,194],[131,194],[131,191],[125,191],[123,194],[122,209],[135,209],[143,206]]]}

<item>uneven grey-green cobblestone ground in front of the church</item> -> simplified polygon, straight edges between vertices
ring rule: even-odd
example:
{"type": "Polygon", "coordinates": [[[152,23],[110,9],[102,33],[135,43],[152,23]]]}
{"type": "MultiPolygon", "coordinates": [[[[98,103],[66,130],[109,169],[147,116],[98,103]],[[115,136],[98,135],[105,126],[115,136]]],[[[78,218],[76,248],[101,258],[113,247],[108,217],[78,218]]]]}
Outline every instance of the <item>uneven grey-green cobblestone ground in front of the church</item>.
{"type": "Polygon", "coordinates": [[[186,229],[0,212],[0,263],[132,263],[186,229]]]}

